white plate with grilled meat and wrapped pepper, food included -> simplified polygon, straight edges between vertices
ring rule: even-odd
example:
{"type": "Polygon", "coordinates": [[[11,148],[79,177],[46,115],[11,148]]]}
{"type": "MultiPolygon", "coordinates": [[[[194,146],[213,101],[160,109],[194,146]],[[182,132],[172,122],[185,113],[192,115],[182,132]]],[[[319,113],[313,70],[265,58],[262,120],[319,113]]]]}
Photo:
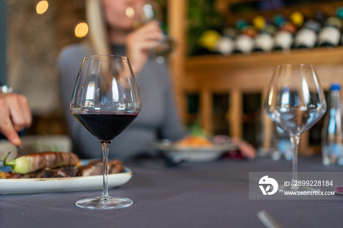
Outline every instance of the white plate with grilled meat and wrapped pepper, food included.
{"type": "MultiPolygon", "coordinates": [[[[99,190],[102,160],[79,160],[71,152],[41,152],[3,160],[0,194],[99,190]]],[[[108,188],[121,186],[132,171],[120,160],[108,162],[108,188]]]]}

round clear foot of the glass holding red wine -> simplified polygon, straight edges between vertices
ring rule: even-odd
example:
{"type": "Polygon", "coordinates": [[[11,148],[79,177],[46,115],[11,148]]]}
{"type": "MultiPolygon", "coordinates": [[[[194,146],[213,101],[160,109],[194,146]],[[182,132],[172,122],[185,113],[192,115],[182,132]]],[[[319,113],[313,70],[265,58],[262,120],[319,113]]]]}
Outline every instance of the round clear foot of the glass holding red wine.
{"type": "Polygon", "coordinates": [[[87,209],[115,209],[132,205],[133,202],[127,198],[121,197],[96,197],[79,200],[76,206],[87,209]]]}

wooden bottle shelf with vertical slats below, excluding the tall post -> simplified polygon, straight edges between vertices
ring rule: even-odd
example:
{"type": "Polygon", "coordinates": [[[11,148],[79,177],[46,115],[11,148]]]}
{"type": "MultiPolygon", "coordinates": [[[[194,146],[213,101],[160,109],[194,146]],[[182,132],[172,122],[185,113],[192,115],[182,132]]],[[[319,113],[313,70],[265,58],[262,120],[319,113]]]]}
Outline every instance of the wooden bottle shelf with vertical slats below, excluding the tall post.
{"type": "MultiPolygon", "coordinates": [[[[292,50],[287,53],[272,52],[263,55],[199,56],[189,57],[185,62],[185,75],[181,85],[183,96],[187,92],[199,92],[200,116],[202,126],[212,132],[214,93],[227,92],[229,100],[229,136],[243,136],[244,93],[262,93],[262,99],[270,82],[272,71],[279,64],[313,64],[319,75],[320,83],[328,91],[332,82],[343,84],[343,47],[334,49],[315,48],[308,51],[292,50]]],[[[264,101],[261,101],[263,104],[264,101]]],[[[186,110],[185,107],[182,110],[186,110]]],[[[187,121],[187,114],[184,114],[187,121]]],[[[264,136],[271,134],[271,121],[266,114],[262,116],[264,136]]],[[[302,138],[308,138],[306,133],[302,138]]],[[[269,147],[269,137],[264,139],[269,147]]],[[[308,139],[302,139],[300,151],[314,153],[308,147],[308,139]]]]}

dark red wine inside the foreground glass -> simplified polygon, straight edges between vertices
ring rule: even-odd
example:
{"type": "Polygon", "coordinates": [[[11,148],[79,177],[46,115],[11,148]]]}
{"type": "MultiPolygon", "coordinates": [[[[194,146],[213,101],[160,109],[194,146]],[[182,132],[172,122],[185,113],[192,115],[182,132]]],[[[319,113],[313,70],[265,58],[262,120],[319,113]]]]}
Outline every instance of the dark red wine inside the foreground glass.
{"type": "Polygon", "coordinates": [[[127,128],[137,114],[74,114],[75,118],[100,141],[110,142],[127,128]]]}

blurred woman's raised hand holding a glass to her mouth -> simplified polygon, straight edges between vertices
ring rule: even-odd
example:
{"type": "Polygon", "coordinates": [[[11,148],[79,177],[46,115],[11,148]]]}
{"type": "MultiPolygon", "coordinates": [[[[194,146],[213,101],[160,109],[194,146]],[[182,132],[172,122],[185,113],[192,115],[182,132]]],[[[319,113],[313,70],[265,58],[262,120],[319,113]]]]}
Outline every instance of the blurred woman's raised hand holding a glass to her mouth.
{"type": "Polygon", "coordinates": [[[164,37],[160,25],[156,21],[149,22],[127,35],[126,55],[132,70],[139,74],[149,58],[149,49],[156,47],[164,37]]]}

